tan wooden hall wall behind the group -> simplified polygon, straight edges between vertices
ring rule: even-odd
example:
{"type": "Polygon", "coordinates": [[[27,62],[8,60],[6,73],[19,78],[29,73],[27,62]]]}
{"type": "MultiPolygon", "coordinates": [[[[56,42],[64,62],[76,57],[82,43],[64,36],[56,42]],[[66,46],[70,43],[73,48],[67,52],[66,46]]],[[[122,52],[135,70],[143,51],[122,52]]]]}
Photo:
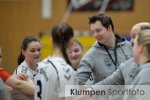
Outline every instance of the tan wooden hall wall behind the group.
{"type": "MultiPolygon", "coordinates": [[[[113,19],[115,30],[124,35],[132,25],[141,21],[150,22],[150,0],[135,0],[134,10],[127,12],[107,12],[113,19]]],[[[0,46],[3,49],[3,66],[12,72],[17,66],[17,56],[23,38],[61,22],[67,0],[52,0],[52,18],[41,17],[41,0],[0,0],[0,46]]],[[[73,12],[67,22],[77,30],[89,30],[88,17],[97,12],[73,12]]]]}

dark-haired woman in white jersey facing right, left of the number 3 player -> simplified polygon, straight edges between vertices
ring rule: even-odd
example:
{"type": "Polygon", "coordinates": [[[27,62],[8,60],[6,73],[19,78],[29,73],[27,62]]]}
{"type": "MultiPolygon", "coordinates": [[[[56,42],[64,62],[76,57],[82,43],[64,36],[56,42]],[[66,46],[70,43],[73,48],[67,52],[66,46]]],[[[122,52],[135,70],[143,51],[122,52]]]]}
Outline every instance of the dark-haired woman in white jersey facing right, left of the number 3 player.
{"type": "MultiPolygon", "coordinates": [[[[33,83],[36,74],[37,63],[41,56],[41,42],[34,36],[27,36],[22,42],[21,52],[18,57],[19,66],[14,71],[15,74],[26,73],[28,75],[27,81],[33,83]]],[[[23,94],[13,91],[13,100],[28,100],[23,94]]]]}

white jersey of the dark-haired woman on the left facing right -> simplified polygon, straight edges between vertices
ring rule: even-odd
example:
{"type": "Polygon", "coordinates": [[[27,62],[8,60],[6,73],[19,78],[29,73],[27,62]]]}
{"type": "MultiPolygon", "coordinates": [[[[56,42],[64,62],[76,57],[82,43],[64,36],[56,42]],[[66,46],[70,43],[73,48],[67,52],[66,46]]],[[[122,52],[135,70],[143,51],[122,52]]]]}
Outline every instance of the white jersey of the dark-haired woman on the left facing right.
{"type": "Polygon", "coordinates": [[[32,70],[25,61],[23,61],[14,71],[14,75],[15,74],[19,74],[19,73],[26,73],[28,75],[28,79],[27,81],[33,83],[34,80],[34,76],[36,74],[36,71],[32,70]]]}

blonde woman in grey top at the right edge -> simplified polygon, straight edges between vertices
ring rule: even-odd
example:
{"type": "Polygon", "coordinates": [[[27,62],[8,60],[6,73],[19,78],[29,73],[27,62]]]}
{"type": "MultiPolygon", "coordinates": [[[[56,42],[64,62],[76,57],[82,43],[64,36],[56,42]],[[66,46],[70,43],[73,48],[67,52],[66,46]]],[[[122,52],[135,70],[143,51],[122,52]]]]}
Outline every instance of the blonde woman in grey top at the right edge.
{"type": "Polygon", "coordinates": [[[133,57],[139,64],[138,74],[135,76],[132,90],[143,90],[144,95],[126,96],[125,100],[148,100],[150,98],[150,29],[139,32],[134,40],[133,57]]]}

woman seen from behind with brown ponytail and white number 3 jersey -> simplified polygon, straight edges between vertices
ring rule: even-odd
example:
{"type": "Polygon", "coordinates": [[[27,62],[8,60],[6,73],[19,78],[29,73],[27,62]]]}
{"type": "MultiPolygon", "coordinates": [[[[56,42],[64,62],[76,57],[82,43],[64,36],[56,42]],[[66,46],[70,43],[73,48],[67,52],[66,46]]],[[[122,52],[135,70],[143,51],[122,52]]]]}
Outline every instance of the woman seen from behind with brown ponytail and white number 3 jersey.
{"type": "Polygon", "coordinates": [[[53,54],[39,63],[35,77],[35,100],[67,100],[65,85],[75,85],[76,78],[70,66],[67,48],[72,45],[74,33],[71,26],[60,23],[52,28],[53,54]]]}

